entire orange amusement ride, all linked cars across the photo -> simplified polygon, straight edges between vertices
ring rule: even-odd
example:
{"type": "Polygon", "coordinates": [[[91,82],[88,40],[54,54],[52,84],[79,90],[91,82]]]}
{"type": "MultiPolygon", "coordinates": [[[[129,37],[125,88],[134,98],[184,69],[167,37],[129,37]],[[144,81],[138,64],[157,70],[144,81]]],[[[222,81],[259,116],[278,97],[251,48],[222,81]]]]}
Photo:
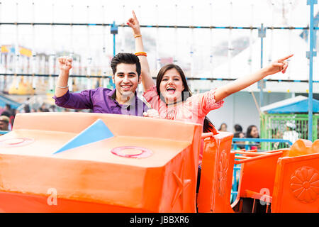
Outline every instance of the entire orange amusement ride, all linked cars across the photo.
{"type": "Polygon", "coordinates": [[[232,139],[138,116],[18,114],[0,138],[0,211],[319,212],[319,140],[257,152],[232,151],[232,139]]]}

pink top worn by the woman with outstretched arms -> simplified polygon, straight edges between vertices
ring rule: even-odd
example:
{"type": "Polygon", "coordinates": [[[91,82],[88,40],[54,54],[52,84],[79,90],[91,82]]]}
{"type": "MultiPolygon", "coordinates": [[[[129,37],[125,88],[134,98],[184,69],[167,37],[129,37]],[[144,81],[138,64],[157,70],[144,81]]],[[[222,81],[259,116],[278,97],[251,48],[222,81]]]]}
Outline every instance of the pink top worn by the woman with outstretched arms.
{"type": "MultiPolygon", "coordinates": [[[[224,100],[220,100],[216,103],[215,90],[216,89],[211,89],[208,92],[194,94],[186,99],[186,101],[174,106],[167,106],[164,101],[159,98],[155,86],[152,86],[147,92],[144,92],[143,96],[152,106],[152,109],[158,111],[159,118],[199,123],[203,126],[203,121],[209,111],[218,109],[224,104],[224,100]]],[[[202,158],[203,143],[201,143],[201,150],[199,153],[200,163],[202,158]]]]}

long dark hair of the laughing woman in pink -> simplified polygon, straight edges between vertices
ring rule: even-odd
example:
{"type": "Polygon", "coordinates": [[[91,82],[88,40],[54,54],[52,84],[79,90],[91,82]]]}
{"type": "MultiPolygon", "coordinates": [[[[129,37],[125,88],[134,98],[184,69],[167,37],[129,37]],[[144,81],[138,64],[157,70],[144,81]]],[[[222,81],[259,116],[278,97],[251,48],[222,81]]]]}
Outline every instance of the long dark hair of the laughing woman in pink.
{"type": "MultiPolygon", "coordinates": [[[[157,94],[162,99],[162,95],[161,95],[161,92],[159,90],[159,85],[162,82],[162,78],[163,78],[165,72],[167,72],[168,70],[172,70],[172,69],[177,70],[177,72],[179,72],[179,75],[181,76],[181,81],[183,82],[183,85],[184,85],[184,90],[181,92],[181,100],[186,101],[186,99],[191,96],[191,89],[189,89],[189,85],[186,82],[186,77],[185,77],[183,70],[181,70],[181,67],[179,67],[178,65],[174,65],[174,64],[164,65],[164,67],[162,67],[159,70],[159,72],[157,74],[157,79],[156,79],[157,94]]],[[[213,132],[214,128],[215,128],[215,126],[213,125],[211,120],[209,120],[209,118],[207,116],[205,116],[205,119],[203,121],[203,132],[204,133],[213,132]]]]}

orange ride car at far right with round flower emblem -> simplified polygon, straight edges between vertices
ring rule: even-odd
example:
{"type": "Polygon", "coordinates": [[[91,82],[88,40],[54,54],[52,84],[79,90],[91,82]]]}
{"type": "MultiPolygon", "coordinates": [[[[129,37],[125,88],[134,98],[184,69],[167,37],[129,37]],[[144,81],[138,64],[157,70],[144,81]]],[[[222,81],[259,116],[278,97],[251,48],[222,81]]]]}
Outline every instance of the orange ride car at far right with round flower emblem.
{"type": "Polygon", "coordinates": [[[319,140],[297,140],[276,167],[272,212],[319,212],[319,140]]]}

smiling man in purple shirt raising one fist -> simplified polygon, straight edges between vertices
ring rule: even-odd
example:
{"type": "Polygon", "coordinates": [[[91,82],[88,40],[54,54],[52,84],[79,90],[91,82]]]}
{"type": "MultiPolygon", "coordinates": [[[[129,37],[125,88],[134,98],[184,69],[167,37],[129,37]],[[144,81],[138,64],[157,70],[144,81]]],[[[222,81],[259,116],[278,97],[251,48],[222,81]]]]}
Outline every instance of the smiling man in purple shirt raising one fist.
{"type": "Polygon", "coordinates": [[[113,82],[116,89],[99,87],[70,93],[67,80],[72,68],[71,57],[58,58],[60,74],[55,87],[55,104],[69,109],[92,109],[93,113],[126,114],[143,116],[148,107],[136,96],[136,88],[142,81],[140,60],[130,53],[118,53],[111,61],[113,82]]]}

